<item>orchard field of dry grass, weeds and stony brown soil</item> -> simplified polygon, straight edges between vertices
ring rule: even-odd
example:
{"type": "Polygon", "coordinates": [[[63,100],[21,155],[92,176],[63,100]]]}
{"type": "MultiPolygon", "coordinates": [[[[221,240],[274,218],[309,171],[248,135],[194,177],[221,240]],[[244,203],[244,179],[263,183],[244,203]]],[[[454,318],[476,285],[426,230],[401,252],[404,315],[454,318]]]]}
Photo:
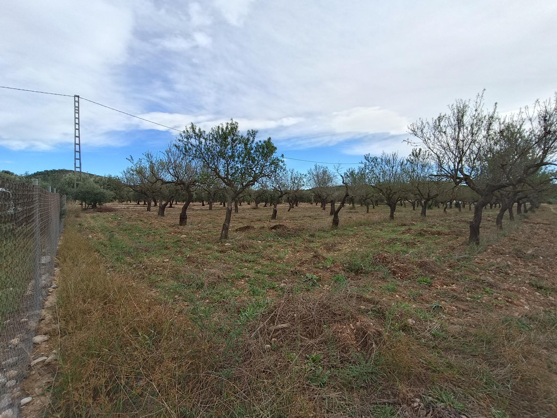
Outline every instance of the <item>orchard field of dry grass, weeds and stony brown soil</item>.
{"type": "Polygon", "coordinates": [[[54,414],[555,416],[557,213],[77,213],[54,414]]]}

